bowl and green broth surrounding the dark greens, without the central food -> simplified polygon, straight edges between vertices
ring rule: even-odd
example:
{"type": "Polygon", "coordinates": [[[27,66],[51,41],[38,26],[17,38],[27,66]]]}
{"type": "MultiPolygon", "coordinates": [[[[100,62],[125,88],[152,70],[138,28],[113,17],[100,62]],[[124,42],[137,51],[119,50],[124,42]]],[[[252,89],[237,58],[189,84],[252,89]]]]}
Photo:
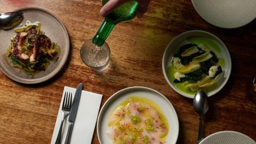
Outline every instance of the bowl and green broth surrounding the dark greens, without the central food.
{"type": "Polygon", "coordinates": [[[213,51],[219,61],[217,65],[222,67],[222,77],[219,81],[209,87],[206,87],[205,92],[209,97],[219,92],[227,83],[231,73],[231,58],[226,45],[215,35],[203,30],[190,30],[176,36],[166,47],[163,55],[163,73],[167,83],[172,89],[187,98],[194,98],[196,92],[184,87],[183,83],[174,83],[174,73],[177,71],[172,65],[172,58],[177,53],[182,45],[185,44],[203,43],[211,51],[213,51]]]}

